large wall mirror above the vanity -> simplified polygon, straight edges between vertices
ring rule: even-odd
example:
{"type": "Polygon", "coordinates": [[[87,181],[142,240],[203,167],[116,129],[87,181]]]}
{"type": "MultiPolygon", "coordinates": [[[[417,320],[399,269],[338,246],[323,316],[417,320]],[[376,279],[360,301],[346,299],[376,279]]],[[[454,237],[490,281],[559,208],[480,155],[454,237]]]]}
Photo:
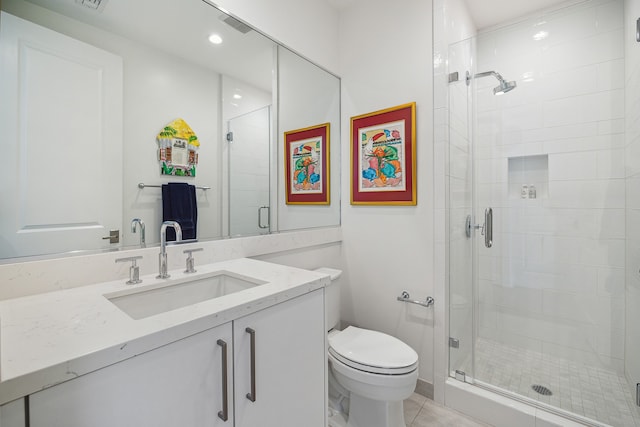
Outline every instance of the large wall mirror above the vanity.
{"type": "Polygon", "coordinates": [[[336,76],[203,0],[1,8],[4,262],[139,247],[135,218],[157,244],[168,182],[196,186],[201,241],[339,225],[336,76]],[[178,118],[194,177],[161,173],[156,136],[178,118]],[[283,134],[322,123],[331,202],[287,205],[283,134]]]}

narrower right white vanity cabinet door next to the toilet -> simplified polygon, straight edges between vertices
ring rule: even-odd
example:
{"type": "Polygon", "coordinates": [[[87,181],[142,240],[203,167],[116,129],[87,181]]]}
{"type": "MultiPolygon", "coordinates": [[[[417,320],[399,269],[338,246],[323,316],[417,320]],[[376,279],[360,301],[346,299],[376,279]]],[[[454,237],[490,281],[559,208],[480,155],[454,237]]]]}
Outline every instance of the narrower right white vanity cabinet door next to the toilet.
{"type": "Polygon", "coordinates": [[[240,318],[233,335],[236,427],[326,425],[324,290],[240,318]]]}

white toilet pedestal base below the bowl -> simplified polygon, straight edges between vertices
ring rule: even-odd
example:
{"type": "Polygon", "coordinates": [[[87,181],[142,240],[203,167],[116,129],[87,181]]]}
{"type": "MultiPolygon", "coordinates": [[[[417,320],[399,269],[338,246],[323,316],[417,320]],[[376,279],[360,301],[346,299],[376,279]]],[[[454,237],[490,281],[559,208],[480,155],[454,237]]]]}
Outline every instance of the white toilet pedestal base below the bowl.
{"type": "Polygon", "coordinates": [[[381,402],[351,394],[346,427],[406,427],[403,401],[381,402]]]}

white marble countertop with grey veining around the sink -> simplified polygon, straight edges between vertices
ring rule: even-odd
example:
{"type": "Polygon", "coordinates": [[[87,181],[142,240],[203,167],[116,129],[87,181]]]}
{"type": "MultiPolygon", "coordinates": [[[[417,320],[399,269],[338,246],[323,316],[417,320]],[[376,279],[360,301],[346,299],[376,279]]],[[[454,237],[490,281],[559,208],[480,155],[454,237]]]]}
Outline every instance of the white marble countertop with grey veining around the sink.
{"type": "Polygon", "coordinates": [[[329,284],[329,276],[248,258],[197,266],[197,273],[141,277],[0,301],[0,404],[329,284]],[[105,294],[155,288],[223,271],[265,284],[134,320],[105,294]]]}

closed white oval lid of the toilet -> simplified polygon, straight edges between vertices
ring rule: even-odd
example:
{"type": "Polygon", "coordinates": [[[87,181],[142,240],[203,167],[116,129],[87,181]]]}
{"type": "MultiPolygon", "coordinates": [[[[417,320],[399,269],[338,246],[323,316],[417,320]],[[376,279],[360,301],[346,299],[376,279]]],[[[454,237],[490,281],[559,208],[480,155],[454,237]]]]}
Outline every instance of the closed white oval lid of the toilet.
{"type": "Polygon", "coordinates": [[[399,339],[354,326],[329,337],[329,352],[352,368],[380,374],[405,374],[418,364],[418,354],[399,339]]]}

